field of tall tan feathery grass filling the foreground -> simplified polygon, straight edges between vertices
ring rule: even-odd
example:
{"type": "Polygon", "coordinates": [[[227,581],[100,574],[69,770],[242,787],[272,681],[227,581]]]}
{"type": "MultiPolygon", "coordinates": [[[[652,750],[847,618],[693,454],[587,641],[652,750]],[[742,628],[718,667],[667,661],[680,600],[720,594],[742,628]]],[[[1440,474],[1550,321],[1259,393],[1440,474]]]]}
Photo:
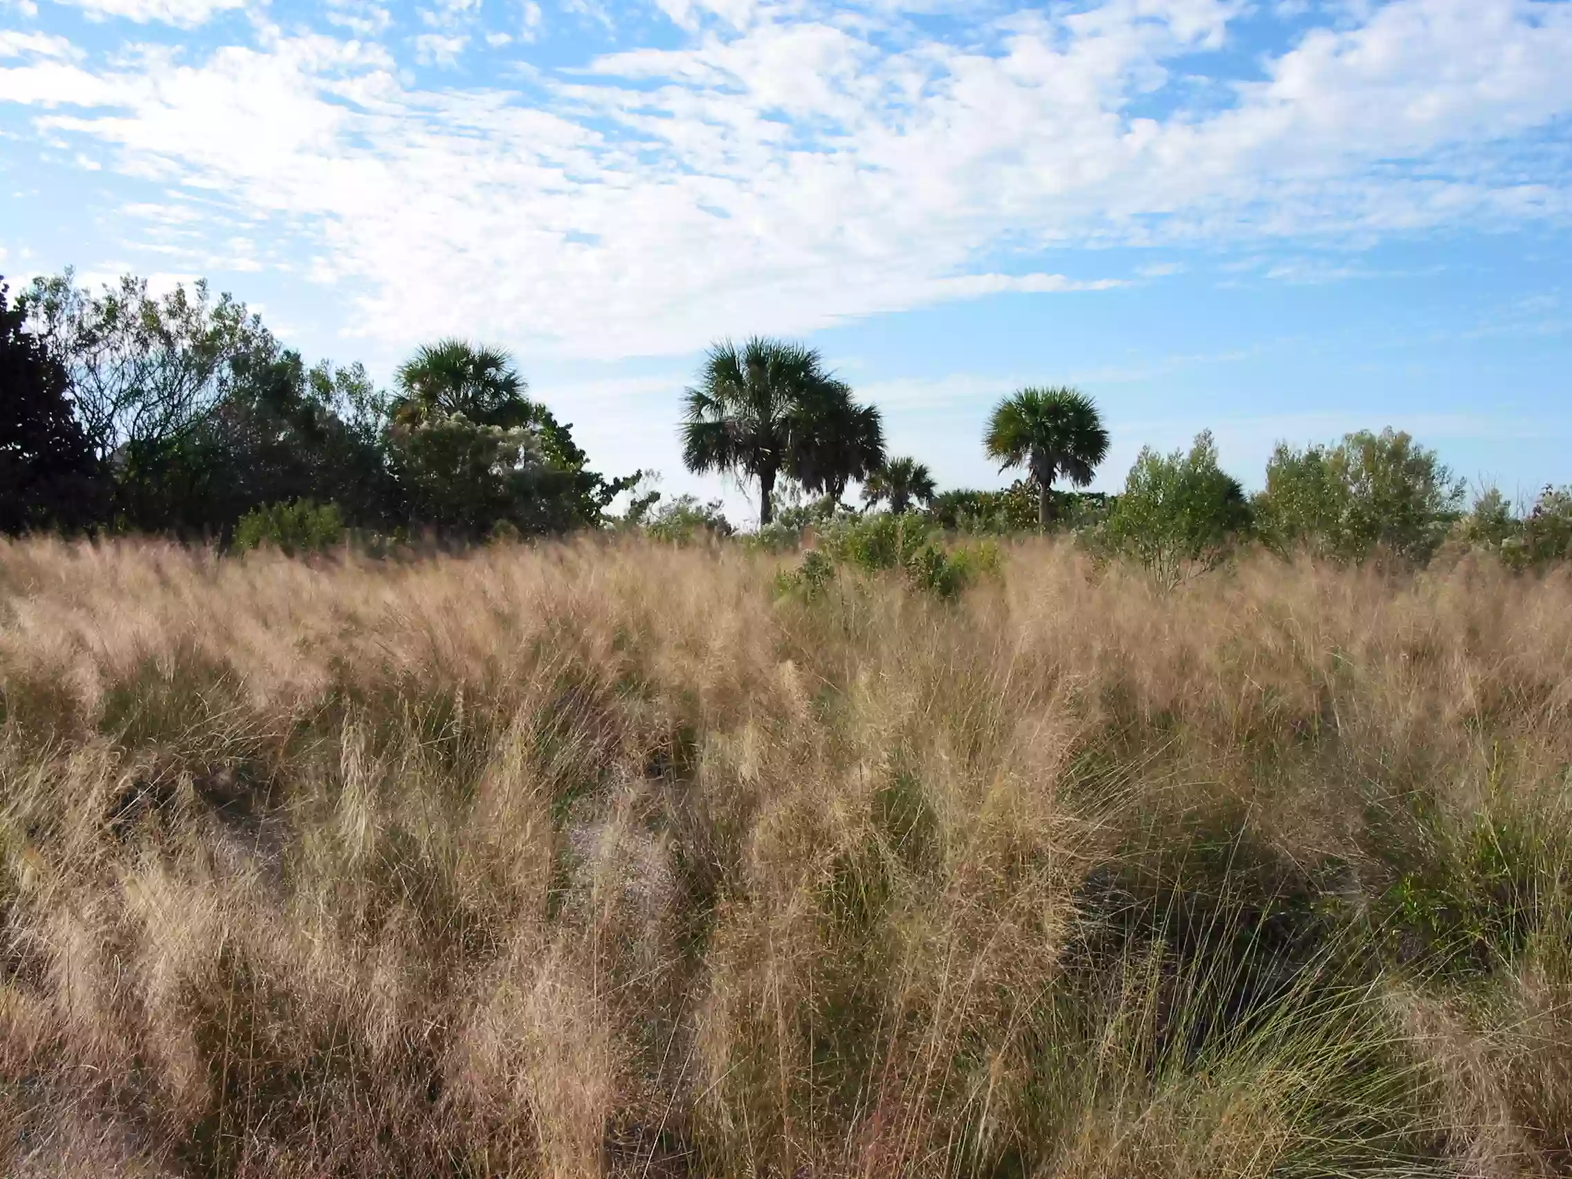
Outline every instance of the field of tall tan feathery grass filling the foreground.
{"type": "Polygon", "coordinates": [[[0,1173],[1572,1173],[1572,577],[0,547],[0,1173]]]}

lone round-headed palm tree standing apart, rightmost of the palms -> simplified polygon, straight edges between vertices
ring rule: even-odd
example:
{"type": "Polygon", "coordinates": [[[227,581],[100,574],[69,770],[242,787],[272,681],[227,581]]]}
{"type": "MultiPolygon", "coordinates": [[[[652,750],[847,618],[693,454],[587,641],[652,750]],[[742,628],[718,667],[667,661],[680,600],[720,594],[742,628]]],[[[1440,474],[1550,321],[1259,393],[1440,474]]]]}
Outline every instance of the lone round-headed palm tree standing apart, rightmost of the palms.
{"type": "Polygon", "coordinates": [[[1053,481],[1077,487],[1091,483],[1108,457],[1108,431],[1096,402],[1074,388],[1023,388],[994,407],[987,435],[989,457],[1005,467],[1027,467],[1038,484],[1038,525],[1053,519],[1053,481]]]}

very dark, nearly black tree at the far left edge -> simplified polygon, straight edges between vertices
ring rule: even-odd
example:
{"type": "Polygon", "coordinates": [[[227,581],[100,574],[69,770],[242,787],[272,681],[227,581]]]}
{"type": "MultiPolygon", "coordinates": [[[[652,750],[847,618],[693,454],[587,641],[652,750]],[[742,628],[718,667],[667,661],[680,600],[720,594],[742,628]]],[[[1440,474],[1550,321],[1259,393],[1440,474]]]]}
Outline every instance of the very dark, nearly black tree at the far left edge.
{"type": "Polygon", "coordinates": [[[0,531],[79,528],[102,509],[101,472],[66,396],[64,366],[22,330],[0,281],[0,531]]]}

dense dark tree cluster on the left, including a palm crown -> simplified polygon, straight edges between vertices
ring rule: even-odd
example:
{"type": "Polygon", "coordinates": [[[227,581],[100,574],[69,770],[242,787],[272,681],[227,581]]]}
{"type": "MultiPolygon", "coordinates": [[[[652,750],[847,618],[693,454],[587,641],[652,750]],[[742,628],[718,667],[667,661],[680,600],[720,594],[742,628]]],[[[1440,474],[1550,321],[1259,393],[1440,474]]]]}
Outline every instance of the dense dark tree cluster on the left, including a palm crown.
{"type": "Polygon", "coordinates": [[[0,285],[0,528],[228,541],[313,503],[382,533],[473,541],[599,527],[638,479],[588,467],[505,352],[428,344],[379,390],[307,366],[206,283],[0,285]]]}

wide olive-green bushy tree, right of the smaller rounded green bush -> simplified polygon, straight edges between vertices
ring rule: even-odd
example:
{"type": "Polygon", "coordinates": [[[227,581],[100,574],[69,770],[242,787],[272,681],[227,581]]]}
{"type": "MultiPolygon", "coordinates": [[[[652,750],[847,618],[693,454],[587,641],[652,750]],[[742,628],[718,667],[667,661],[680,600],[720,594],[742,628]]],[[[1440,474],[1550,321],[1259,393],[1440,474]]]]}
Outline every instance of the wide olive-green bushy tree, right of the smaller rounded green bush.
{"type": "Polygon", "coordinates": [[[1388,428],[1347,434],[1335,446],[1280,443],[1254,509],[1261,536],[1280,552],[1308,547],[1339,561],[1382,552],[1423,564],[1462,498],[1462,481],[1435,451],[1388,428]]]}

